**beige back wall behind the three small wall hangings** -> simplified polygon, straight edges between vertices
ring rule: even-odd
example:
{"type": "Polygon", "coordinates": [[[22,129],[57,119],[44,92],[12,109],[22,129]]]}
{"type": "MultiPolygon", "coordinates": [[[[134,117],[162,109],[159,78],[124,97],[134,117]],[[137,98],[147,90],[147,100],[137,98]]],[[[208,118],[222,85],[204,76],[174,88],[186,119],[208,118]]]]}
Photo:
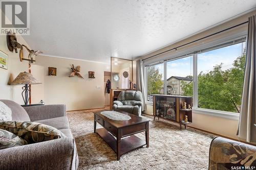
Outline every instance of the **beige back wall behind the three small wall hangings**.
{"type": "Polygon", "coordinates": [[[46,104],[66,104],[67,110],[104,107],[104,71],[109,71],[108,64],[46,56],[37,57],[36,64],[44,67],[46,104]],[[81,66],[80,73],[86,80],[69,77],[72,64],[81,66]],[[48,67],[56,67],[57,76],[48,76],[48,67]],[[95,71],[95,79],[88,78],[88,71],[95,71]]]}

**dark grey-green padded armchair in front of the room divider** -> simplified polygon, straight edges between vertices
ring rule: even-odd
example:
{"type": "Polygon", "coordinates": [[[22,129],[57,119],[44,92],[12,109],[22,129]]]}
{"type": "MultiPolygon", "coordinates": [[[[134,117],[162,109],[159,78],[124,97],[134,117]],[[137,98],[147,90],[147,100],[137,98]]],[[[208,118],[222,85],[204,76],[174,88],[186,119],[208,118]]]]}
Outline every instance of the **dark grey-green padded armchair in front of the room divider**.
{"type": "Polygon", "coordinates": [[[141,116],[141,111],[143,110],[141,91],[121,91],[117,101],[113,102],[113,109],[141,116]]]}

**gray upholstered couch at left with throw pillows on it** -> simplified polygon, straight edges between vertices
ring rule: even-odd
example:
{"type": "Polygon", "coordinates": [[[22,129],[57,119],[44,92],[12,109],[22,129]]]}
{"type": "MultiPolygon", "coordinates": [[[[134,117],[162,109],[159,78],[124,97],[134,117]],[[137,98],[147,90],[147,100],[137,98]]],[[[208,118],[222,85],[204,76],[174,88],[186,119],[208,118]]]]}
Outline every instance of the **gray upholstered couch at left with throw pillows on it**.
{"type": "Polygon", "coordinates": [[[0,150],[0,169],[77,169],[76,144],[65,105],[21,107],[0,100],[12,110],[13,120],[35,121],[59,129],[67,137],[0,150]]]}

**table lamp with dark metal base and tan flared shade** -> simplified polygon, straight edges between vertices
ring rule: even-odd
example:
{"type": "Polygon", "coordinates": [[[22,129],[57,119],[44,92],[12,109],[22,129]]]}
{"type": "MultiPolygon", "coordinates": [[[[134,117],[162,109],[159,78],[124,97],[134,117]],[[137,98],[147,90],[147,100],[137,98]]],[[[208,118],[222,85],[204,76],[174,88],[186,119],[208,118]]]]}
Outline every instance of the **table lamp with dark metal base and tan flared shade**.
{"type": "Polygon", "coordinates": [[[34,78],[29,72],[20,72],[20,74],[11,83],[11,85],[25,85],[22,87],[22,98],[25,105],[28,105],[31,95],[29,84],[41,84],[41,82],[36,80],[36,78],[34,78]]]}

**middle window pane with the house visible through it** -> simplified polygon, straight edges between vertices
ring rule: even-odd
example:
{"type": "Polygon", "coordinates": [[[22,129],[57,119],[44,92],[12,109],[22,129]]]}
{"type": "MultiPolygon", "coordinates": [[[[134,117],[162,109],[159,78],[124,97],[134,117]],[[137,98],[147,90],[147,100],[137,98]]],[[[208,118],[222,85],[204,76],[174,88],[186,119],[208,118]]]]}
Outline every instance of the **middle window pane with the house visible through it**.
{"type": "Polygon", "coordinates": [[[193,56],[167,62],[167,94],[193,96],[193,56]]]}

